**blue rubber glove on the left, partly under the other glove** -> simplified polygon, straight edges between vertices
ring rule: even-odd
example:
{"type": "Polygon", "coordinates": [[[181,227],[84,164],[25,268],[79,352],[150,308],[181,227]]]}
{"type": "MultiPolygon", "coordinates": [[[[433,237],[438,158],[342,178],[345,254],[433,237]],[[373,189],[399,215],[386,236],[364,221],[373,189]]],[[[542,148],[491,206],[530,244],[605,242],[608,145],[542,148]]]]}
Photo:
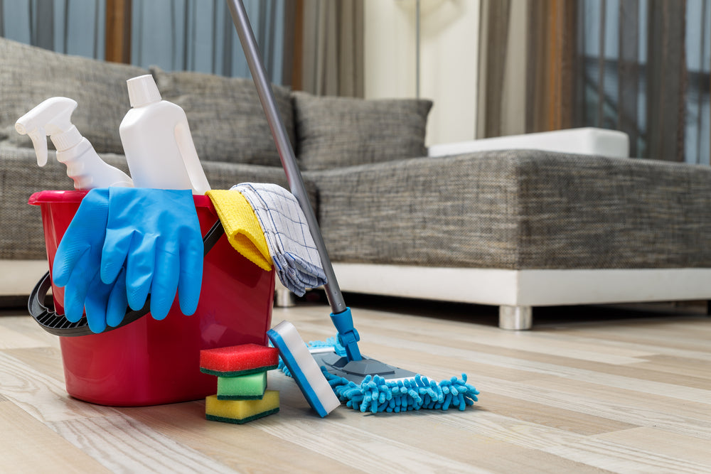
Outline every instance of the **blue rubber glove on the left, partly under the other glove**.
{"type": "Polygon", "coordinates": [[[128,306],[125,272],[108,284],[99,275],[108,212],[109,190],[90,190],[57,247],[52,266],[54,284],[64,286],[65,317],[76,323],[86,309],[94,333],[105,330],[107,322],[118,325],[128,306]]]}

